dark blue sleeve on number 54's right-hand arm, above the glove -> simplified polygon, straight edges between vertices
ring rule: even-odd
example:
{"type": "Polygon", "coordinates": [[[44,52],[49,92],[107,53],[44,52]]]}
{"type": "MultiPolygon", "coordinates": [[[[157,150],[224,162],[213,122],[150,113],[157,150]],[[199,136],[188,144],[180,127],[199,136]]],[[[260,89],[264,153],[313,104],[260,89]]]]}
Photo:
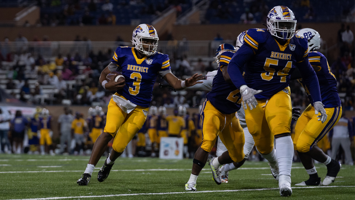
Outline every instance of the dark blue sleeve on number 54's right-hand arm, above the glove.
{"type": "MultiPolygon", "coordinates": [[[[308,56],[306,56],[308,57],[308,56]]],[[[308,91],[310,92],[314,102],[321,101],[321,91],[319,89],[318,78],[316,72],[312,68],[308,59],[303,60],[302,62],[297,62],[296,67],[299,68],[301,73],[302,80],[305,82],[308,91]]]]}

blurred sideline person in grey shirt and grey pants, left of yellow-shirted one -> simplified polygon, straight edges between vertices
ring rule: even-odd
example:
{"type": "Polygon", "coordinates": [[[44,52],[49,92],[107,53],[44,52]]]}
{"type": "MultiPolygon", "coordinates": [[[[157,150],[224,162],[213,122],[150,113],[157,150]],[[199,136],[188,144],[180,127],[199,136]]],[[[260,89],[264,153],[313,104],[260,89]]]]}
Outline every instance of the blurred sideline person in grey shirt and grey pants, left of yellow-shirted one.
{"type": "Polygon", "coordinates": [[[58,130],[60,135],[60,153],[64,153],[65,142],[67,143],[67,152],[70,153],[71,143],[71,123],[74,116],[69,113],[69,107],[64,107],[64,114],[58,118],[58,130]]]}

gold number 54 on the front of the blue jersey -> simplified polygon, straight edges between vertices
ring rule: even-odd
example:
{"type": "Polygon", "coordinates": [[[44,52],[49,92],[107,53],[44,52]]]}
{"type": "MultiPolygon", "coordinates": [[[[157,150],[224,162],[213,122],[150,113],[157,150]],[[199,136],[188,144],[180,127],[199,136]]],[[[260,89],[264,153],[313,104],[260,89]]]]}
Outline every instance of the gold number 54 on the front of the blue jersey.
{"type": "MultiPolygon", "coordinates": [[[[266,58],[264,64],[264,70],[266,72],[260,74],[261,78],[267,81],[271,80],[274,77],[275,69],[271,68],[270,65],[278,65],[278,64],[279,64],[278,59],[266,58]]],[[[288,75],[288,72],[290,71],[291,67],[292,67],[292,61],[288,61],[286,66],[277,72],[277,75],[281,77],[280,82],[286,82],[286,76],[288,75]]]]}

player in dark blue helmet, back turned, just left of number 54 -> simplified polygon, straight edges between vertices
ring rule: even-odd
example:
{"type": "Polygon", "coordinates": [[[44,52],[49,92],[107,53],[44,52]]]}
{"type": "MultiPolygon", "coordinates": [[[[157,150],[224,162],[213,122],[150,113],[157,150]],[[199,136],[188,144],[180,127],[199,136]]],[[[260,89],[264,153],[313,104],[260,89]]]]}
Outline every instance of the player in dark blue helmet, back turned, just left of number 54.
{"type": "Polygon", "coordinates": [[[225,81],[223,76],[234,53],[235,47],[231,44],[221,44],[217,49],[218,71],[213,78],[212,90],[207,94],[201,110],[202,143],[195,153],[192,172],[189,181],[185,184],[185,190],[196,191],[197,177],[207,162],[208,154],[217,136],[228,150],[219,158],[208,160],[213,179],[217,184],[222,183],[219,171],[222,164],[241,162],[244,159],[244,132],[239,119],[235,117],[241,107],[241,95],[236,86],[225,81]]]}

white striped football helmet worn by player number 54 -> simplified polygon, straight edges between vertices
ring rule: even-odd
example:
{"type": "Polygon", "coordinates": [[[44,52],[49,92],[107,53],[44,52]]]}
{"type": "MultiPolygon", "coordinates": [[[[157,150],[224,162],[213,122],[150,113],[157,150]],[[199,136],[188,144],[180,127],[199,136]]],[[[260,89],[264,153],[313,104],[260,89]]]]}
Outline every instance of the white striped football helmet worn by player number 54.
{"type": "Polygon", "coordinates": [[[271,35],[283,40],[289,40],[295,35],[296,23],[295,15],[286,6],[275,6],[266,19],[266,26],[271,35]]]}

